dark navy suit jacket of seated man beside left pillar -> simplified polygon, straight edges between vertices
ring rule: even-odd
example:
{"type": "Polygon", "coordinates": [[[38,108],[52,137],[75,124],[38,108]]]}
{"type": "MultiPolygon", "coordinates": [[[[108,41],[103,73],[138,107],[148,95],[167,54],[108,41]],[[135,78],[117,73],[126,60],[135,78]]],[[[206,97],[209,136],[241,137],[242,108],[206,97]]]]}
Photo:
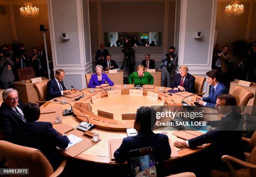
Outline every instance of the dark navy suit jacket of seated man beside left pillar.
{"type": "MultiPolygon", "coordinates": [[[[64,86],[63,81],[61,82],[61,86],[63,90],[67,90],[64,86]]],[[[47,82],[47,98],[46,100],[54,99],[58,96],[61,96],[61,91],[59,89],[58,83],[55,78],[51,79],[47,82]]]]}

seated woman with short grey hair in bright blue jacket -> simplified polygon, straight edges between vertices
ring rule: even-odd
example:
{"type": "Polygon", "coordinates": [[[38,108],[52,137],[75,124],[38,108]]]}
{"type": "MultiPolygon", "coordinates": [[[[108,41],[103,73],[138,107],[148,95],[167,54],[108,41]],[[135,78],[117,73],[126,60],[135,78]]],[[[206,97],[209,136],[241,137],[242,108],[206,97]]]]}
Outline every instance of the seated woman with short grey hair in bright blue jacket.
{"type": "Polygon", "coordinates": [[[101,65],[96,65],[95,74],[92,74],[90,82],[88,84],[89,88],[102,88],[106,86],[113,86],[113,81],[110,80],[107,74],[102,73],[103,67],[101,65]]]}

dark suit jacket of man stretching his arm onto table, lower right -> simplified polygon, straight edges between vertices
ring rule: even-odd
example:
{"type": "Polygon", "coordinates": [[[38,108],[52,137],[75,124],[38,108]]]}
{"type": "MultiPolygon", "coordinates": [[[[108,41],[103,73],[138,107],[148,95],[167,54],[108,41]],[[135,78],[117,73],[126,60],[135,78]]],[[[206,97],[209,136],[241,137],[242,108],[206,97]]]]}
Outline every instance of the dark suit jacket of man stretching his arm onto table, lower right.
{"type": "Polygon", "coordinates": [[[197,147],[205,143],[213,143],[220,158],[223,155],[231,155],[238,159],[245,160],[242,144],[242,119],[241,115],[231,111],[225,118],[222,118],[216,129],[208,131],[199,137],[189,139],[189,147],[197,147]],[[235,131],[236,130],[236,131],[235,131]]]}

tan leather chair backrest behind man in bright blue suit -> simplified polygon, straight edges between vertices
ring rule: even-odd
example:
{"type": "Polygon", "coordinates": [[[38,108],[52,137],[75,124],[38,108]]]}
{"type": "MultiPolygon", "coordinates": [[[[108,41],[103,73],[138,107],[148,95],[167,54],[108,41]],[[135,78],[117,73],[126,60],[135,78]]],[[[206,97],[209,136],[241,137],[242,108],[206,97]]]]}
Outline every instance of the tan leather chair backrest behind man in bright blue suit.
{"type": "Polygon", "coordinates": [[[229,94],[236,97],[236,106],[246,106],[248,101],[254,97],[253,93],[241,86],[236,86],[229,94]]]}

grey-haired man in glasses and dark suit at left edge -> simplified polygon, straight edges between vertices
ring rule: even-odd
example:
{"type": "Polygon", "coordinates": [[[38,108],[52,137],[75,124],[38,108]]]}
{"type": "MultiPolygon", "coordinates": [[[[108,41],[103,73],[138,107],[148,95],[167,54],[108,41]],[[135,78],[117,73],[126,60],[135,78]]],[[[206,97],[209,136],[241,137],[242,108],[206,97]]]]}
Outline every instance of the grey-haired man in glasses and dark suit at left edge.
{"type": "Polygon", "coordinates": [[[3,103],[0,106],[0,129],[9,138],[14,128],[26,124],[23,116],[24,104],[18,98],[18,91],[8,88],[3,91],[3,103]]]}

